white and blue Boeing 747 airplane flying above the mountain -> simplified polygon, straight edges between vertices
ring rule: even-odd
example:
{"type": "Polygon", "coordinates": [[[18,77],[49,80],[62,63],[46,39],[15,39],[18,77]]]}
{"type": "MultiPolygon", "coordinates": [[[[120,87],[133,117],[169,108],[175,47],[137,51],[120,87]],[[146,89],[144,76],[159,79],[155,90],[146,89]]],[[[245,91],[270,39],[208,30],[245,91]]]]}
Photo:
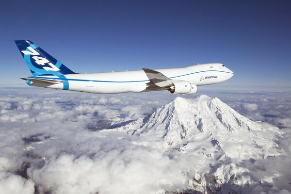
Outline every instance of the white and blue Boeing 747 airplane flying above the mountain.
{"type": "Polygon", "coordinates": [[[75,73],[29,40],[15,40],[32,76],[21,78],[30,86],[97,94],[168,90],[189,95],[197,86],[226,81],[233,72],[223,64],[108,73],[75,73]]]}

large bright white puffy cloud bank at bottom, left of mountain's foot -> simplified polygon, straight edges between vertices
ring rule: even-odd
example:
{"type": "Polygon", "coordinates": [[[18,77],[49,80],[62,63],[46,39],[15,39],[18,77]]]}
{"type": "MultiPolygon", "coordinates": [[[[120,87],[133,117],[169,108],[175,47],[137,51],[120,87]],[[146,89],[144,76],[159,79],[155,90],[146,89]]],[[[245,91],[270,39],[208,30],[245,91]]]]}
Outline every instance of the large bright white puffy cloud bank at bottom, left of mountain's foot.
{"type": "Polygon", "coordinates": [[[90,158],[84,155],[53,157],[42,168],[29,169],[28,175],[44,191],[54,188],[56,193],[71,194],[175,191],[183,187],[187,179],[171,165],[168,157],[142,146],[114,148],[106,153],[102,150],[90,158]]]}

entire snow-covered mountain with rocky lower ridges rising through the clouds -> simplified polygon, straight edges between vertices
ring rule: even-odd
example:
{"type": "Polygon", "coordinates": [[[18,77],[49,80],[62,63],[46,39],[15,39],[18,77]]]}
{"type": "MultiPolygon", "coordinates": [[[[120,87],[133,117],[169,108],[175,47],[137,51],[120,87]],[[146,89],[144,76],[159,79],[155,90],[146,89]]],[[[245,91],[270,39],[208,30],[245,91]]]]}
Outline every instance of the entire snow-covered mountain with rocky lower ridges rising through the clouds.
{"type": "Polygon", "coordinates": [[[189,174],[189,189],[202,193],[245,192],[256,179],[245,163],[281,153],[276,127],[251,121],[205,95],[177,97],[147,118],[113,130],[138,135],[142,141],[134,144],[163,149],[169,157],[191,155],[183,173],[189,174]]]}

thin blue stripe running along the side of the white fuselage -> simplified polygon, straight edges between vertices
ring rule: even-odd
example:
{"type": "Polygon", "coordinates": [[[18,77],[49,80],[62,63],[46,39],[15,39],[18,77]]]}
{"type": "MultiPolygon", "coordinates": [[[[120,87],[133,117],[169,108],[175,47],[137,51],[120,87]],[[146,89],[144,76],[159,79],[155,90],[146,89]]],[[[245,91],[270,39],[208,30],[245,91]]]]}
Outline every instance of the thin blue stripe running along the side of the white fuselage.
{"type": "MultiPolygon", "coordinates": [[[[194,73],[188,73],[188,74],[184,74],[184,75],[180,75],[180,76],[174,76],[174,77],[170,77],[170,79],[172,78],[178,78],[178,77],[182,77],[182,76],[187,76],[187,75],[191,75],[191,74],[195,74],[195,73],[202,73],[202,72],[209,72],[209,71],[216,71],[216,72],[224,72],[224,73],[230,73],[233,74],[231,72],[227,72],[227,71],[217,71],[217,70],[207,70],[207,71],[198,71],[198,72],[194,72],[194,73]]],[[[110,83],[128,83],[128,82],[142,82],[142,81],[149,81],[149,80],[140,80],[140,81],[102,81],[102,80],[81,80],[81,79],[68,79],[68,78],[44,78],[44,77],[29,77],[29,78],[38,78],[38,79],[52,79],[52,80],[64,80],[64,81],[93,81],[93,82],[110,82],[110,83]]]]}

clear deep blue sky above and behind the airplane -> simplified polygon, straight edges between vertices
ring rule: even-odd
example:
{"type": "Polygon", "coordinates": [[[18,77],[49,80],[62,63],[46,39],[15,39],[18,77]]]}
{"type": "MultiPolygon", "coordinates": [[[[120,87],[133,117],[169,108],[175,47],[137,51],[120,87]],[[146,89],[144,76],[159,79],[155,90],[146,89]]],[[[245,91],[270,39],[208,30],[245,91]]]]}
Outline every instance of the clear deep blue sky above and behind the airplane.
{"type": "Polygon", "coordinates": [[[223,63],[217,86],[291,90],[291,1],[4,1],[1,85],[30,76],[13,40],[28,39],[75,72],[223,63]]]}

